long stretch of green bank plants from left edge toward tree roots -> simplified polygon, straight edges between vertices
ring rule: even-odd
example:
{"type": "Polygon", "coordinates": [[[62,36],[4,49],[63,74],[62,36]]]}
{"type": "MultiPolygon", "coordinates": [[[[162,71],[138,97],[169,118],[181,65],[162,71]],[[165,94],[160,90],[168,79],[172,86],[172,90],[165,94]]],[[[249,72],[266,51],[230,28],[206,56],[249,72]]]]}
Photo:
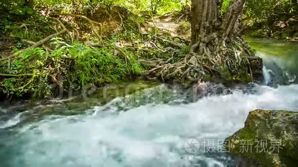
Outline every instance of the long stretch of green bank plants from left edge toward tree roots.
{"type": "Polygon", "coordinates": [[[0,62],[0,73],[11,75],[0,80],[0,93],[48,97],[55,91],[53,83],[63,84],[66,90],[77,84],[80,89],[89,83],[102,85],[143,73],[135,57],[125,60],[115,54],[113,47],[95,50],[81,44],[65,44],[60,38],[53,39],[51,44],[60,47],[52,53],[41,48],[26,50],[10,67],[7,61],[0,62]]]}

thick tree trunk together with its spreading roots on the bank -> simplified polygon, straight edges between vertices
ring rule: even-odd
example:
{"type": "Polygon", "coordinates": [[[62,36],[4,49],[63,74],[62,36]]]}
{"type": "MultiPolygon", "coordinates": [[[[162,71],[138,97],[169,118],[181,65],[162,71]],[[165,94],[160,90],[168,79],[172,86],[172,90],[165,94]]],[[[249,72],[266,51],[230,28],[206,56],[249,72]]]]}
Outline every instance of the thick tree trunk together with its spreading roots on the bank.
{"type": "Polygon", "coordinates": [[[176,64],[159,65],[148,74],[180,82],[210,76],[250,81],[253,75],[262,74],[262,59],[254,56],[240,34],[245,2],[234,0],[221,15],[222,0],[192,0],[190,53],[176,64]]]}

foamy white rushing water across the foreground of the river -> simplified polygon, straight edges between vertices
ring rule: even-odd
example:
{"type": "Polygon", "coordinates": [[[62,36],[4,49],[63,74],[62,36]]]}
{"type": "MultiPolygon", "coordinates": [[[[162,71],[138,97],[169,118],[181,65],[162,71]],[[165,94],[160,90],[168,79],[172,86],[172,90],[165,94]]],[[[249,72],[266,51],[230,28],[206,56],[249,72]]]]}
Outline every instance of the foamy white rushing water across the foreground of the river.
{"type": "MultiPolygon", "coordinates": [[[[111,102],[109,107],[94,107],[91,115],[48,116],[17,129],[14,140],[6,141],[10,154],[17,156],[2,162],[7,166],[182,166],[181,157],[187,155],[184,142],[189,138],[201,143],[225,139],[244,127],[254,109],[298,110],[298,85],[256,86],[254,92],[235,90],[179,105],[147,103],[120,113],[110,107],[117,102],[111,102]]],[[[218,158],[200,153],[198,157],[206,166],[225,166],[218,158]]]]}

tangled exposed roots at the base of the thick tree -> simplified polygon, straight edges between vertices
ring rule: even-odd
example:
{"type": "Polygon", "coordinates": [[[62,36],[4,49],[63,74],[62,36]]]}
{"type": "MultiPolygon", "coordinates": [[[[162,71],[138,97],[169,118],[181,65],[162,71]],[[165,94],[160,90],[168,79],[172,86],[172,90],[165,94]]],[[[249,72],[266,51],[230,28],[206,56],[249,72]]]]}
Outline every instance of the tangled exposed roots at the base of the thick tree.
{"type": "MultiPolygon", "coordinates": [[[[156,37],[158,38],[158,37],[156,37]]],[[[161,37],[159,37],[161,38],[161,37]]],[[[163,39],[163,38],[161,38],[163,39]]],[[[165,41],[165,40],[161,40],[165,41]]],[[[170,43],[169,43],[170,44],[170,43]]],[[[176,45],[175,47],[182,46],[183,44],[176,45]]],[[[229,79],[235,79],[236,76],[244,77],[240,78],[243,80],[253,80],[253,75],[258,74],[262,69],[254,69],[251,67],[252,61],[257,63],[262,63],[262,59],[253,55],[250,51],[249,46],[247,46],[243,40],[232,40],[229,43],[225,44],[227,47],[216,52],[214,55],[211,53],[210,49],[205,45],[199,43],[194,44],[190,50],[190,53],[187,55],[176,55],[179,52],[179,49],[175,48],[165,48],[165,52],[172,52],[172,57],[166,60],[152,58],[152,59],[140,59],[140,64],[144,66],[151,67],[152,69],[146,72],[146,75],[150,78],[160,78],[163,81],[176,79],[179,82],[185,81],[197,81],[198,78],[214,76],[220,78],[220,75],[227,74],[230,77],[229,79]],[[235,46],[233,45],[235,44],[235,46]],[[241,45],[241,46],[237,46],[241,45]],[[196,48],[201,47],[202,55],[199,55],[194,52],[196,48]],[[175,64],[171,64],[171,61],[174,57],[182,57],[175,64]],[[245,60],[242,58],[245,57],[245,60]],[[249,76],[245,75],[247,72],[249,76]],[[242,74],[243,72],[244,74],[242,74]]],[[[259,65],[262,66],[262,65],[259,65]]]]}

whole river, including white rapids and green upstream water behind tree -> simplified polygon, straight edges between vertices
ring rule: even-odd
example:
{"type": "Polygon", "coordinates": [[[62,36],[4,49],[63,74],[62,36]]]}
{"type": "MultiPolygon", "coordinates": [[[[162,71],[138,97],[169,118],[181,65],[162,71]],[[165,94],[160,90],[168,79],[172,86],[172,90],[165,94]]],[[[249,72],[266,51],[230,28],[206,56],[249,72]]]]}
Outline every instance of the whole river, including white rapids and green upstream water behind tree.
{"type": "Polygon", "coordinates": [[[264,59],[262,83],[212,85],[219,91],[196,99],[139,80],[17,111],[0,107],[0,166],[236,166],[241,159],[220,145],[249,111],[298,111],[298,43],[246,40],[264,59]]]}

